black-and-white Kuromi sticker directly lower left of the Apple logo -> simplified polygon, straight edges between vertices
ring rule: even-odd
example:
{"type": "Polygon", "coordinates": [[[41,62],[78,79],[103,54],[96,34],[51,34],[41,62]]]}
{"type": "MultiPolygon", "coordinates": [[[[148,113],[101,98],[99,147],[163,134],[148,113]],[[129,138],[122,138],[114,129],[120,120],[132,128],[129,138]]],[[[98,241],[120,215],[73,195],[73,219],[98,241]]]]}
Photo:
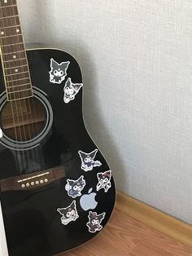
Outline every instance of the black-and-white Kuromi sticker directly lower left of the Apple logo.
{"type": "Polygon", "coordinates": [[[59,214],[62,215],[61,217],[61,223],[63,225],[68,225],[68,223],[75,221],[76,218],[79,218],[79,215],[76,211],[76,201],[73,200],[71,205],[69,205],[66,208],[58,208],[57,211],[59,211],[59,214]]]}

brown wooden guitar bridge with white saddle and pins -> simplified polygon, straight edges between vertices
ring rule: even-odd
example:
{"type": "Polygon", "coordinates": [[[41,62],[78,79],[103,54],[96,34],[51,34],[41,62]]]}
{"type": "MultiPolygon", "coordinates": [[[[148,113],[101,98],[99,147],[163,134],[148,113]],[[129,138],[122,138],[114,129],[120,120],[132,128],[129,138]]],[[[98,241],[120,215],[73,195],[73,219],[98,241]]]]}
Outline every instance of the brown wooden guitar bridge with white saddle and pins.
{"type": "Polygon", "coordinates": [[[0,180],[1,192],[41,188],[65,177],[64,166],[0,180]]]}

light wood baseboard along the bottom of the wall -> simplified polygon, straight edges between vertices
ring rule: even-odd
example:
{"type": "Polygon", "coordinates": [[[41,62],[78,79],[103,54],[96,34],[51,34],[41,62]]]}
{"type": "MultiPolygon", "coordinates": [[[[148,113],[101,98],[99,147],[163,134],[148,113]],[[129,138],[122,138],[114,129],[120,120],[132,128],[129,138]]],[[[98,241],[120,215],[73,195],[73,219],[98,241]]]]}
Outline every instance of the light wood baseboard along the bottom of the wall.
{"type": "Polygon", "coordinates": [[[192,225],[118,191],[116,210],[192,247],[192,225]]]}

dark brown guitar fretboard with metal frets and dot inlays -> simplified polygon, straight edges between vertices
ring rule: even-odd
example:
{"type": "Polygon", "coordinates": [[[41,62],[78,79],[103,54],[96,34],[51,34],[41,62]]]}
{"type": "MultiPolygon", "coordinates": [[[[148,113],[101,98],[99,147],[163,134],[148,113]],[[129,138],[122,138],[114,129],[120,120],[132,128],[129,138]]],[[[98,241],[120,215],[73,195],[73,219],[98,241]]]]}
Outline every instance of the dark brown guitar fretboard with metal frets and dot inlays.
{"type": "Polygon", "coordinates": [[[33,96],[16,0],[0,0],[0,46],[7,99],[33,96]]]}

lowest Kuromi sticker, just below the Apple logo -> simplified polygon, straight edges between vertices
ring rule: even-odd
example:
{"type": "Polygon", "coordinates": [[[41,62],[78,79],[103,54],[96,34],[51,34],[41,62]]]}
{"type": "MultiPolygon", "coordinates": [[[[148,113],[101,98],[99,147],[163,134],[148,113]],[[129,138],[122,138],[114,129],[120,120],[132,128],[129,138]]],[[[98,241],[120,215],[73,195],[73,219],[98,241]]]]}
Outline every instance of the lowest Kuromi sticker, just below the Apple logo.
{"type": "Polygon", "coordinates": [[[96,212],[89,211],[89,222],[86,223],[86,226],[89,227],[89,232],[94,233],[96,231],[100,231],[103,226],[101,225],[101,222],[103,218],[105,218],[105,214],[97,214],[96,212]]]}

